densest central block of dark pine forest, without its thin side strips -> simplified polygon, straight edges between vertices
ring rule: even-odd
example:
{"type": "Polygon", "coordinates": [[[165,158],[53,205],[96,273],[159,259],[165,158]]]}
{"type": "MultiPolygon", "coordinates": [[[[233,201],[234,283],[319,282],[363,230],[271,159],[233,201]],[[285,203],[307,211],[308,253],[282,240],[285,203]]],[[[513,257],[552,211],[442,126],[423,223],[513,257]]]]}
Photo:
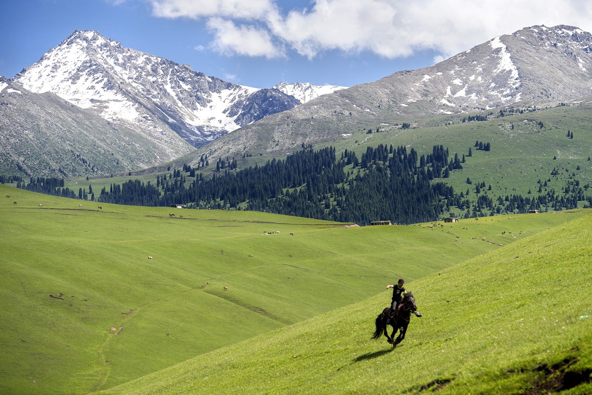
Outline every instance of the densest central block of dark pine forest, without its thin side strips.
{"type": "MultiPolygon", "coordinates": [[[[285,160],[233,171],[228,168],[209,179],[202,175],[191,183],[184,166],[172,178],[157,179],[156,185],[137,180],[112,184],[101,191],[101,202],[188,208],[247,209],[369,225],[382,219],[398,224],[430,221],[443,213],[443,201],[453,190],[433,180],[443,169],[459,169],[448,161],[442,145],[418,158],[405,147],[368,147],[358,158],[345,151],[337,160],[333,147],[314,151],[311,146],[285,160]],[[419,164],[418,164],[419,161],[419,164]]],[[[232,161],[230,161],[230,164],[232,161]]],[[[231,167],[231,166],[229,166],[231,167]]]]}

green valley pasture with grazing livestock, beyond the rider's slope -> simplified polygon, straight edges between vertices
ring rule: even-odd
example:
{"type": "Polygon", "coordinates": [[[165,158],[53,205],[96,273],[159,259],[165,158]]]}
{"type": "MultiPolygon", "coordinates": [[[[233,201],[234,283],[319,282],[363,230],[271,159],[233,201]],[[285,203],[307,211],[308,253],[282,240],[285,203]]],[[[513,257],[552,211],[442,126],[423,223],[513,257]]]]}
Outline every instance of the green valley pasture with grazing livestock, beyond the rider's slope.
{"type": "MultiPolygon", "coordinates": [[[[198,355],[210,360],[210,351],[322,321],[377,294],[372,303],[385,305],[382,290],[398,277],[415,288],[422,277],[589,213],[345,228],[259,212],[81,202],[3,185],[0,196],[0,393],[10,394],[91,393],[198,355]],[[263,234],[272,231],[279,233],[263,234]]],[[[331,328],[368,345],[368,322],[349,326],[331,328]]]]}

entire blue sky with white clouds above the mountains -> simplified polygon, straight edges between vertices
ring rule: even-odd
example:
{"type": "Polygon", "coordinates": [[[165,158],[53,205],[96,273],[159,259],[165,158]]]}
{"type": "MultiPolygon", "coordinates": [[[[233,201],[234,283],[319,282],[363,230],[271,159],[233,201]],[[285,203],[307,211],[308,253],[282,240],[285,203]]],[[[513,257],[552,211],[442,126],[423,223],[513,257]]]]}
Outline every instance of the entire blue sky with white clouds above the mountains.
{"type": "Polygon", "coordinates": [[[0,0],[0,75],[74,30],[97,30],[210,76],[255,88],[352,86],[431,66],[544,24],[592,31],[592,0],[0,0]]]}

